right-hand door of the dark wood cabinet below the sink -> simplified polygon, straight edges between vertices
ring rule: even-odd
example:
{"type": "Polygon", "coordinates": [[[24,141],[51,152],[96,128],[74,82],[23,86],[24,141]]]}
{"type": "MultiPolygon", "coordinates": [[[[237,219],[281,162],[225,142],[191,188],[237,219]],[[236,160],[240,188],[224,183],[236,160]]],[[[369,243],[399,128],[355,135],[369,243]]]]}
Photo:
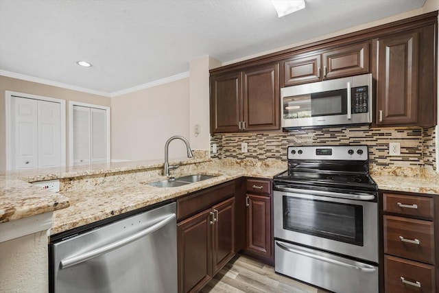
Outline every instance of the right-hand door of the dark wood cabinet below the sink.
{"type": "Polygon", "coordinates": [[[235,197],[213,208],[213,275],[235,255],[235,197]]]}

